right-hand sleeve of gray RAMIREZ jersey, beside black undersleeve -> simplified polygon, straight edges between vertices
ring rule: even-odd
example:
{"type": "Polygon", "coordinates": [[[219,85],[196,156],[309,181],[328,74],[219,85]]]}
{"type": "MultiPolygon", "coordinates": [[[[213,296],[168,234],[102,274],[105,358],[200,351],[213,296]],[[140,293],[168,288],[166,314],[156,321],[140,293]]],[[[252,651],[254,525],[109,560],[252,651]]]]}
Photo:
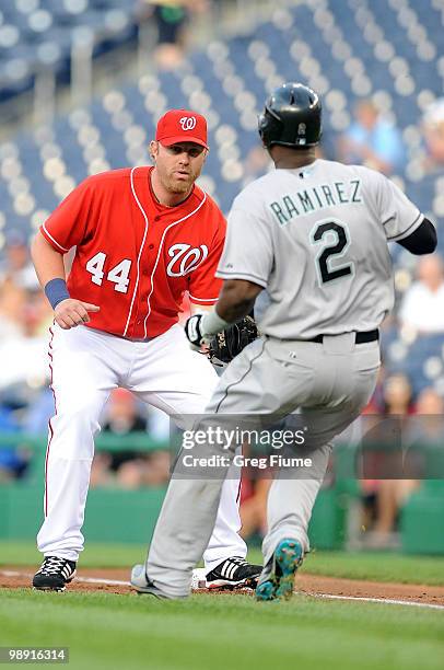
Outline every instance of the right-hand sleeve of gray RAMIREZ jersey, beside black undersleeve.
{"type": "Polygon", "coordinates": [[[387,240],[396,242],[410,235],[424,216],[390,180],[381,175],[378,209],[387,240]]]}

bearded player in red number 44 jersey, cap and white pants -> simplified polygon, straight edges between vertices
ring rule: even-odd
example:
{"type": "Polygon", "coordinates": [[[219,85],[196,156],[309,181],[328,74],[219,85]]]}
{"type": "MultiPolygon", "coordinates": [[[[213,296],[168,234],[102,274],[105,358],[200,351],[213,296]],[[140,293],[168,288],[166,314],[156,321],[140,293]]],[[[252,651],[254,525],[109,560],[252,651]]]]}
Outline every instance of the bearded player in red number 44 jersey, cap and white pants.
{"type": "MultiPolygon", "coordinates": [[[[114,170],[82,182],[42,226],[32,256],[54,308],[49,357],[55,416],[46,455],[45,558],[33,586],[63,590],[83,550],[81,528],[100,416],[117,386],[170,415],[202,413],[218,383],[209,360],[188,347],[178,314],[185,291],[198,310],[217,302],[214,272],[225,221],[196,184],[207,123],[167,112],[150,143],[154,168],[114,170]],[[75,246],[68,279],[63,255],[75,246]]],[[[203,555],[207,580],[249,584],[238,535],[238,480],[226,480],[203,555]]]]}

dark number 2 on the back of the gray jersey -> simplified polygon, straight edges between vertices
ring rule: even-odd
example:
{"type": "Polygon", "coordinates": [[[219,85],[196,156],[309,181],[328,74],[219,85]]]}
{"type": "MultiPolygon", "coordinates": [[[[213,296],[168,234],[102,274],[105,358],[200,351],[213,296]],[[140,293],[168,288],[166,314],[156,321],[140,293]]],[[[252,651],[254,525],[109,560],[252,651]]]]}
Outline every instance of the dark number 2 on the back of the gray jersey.
{"type": "Polygon", "coordinates": [[[325,244],[316,256],[316,272],[319,286],[354,274],[353,263],[336,265],[336,267],[331,267],[329,263],[332,256],[344,256],[350,246],[350,236],[347,226],[342,223],[342,221],[338,221],[338,219],[324,219],[323,221],[318,221],[312,231],[312,241],[314,244],[326,242],[328,241],[326,240],[328,233],[332,233],[332,242],[325,244]]]}

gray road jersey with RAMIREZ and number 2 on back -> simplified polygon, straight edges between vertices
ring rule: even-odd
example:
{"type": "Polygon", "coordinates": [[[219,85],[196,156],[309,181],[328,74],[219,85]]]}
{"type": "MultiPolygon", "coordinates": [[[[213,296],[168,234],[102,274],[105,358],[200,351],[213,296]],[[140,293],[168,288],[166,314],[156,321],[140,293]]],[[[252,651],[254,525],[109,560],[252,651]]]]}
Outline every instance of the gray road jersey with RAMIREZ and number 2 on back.
{"type": "Polygon", "coordinates": [[[319,159],[274,170],[234,200],[217,276],[266,289],[255,312],[267,335],[371,331],[394,303],[387,241],[409,235],[422,219],[373,170],[319,159]]]}

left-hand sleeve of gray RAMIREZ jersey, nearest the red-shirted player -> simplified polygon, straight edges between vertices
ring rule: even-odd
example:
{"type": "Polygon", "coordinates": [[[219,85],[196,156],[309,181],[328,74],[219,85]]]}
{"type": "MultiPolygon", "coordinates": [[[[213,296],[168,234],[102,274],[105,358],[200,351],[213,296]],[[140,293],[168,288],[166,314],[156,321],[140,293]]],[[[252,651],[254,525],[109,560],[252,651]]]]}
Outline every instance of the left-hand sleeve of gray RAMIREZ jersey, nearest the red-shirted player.
{"type": "Polygon", "coordinates": [[[245,204],[233,206],[229,215],[225,246],[217,276],[246,279],[267,287],[273,265],[270,223],[260,212],[247,211],[245,204]]]}

